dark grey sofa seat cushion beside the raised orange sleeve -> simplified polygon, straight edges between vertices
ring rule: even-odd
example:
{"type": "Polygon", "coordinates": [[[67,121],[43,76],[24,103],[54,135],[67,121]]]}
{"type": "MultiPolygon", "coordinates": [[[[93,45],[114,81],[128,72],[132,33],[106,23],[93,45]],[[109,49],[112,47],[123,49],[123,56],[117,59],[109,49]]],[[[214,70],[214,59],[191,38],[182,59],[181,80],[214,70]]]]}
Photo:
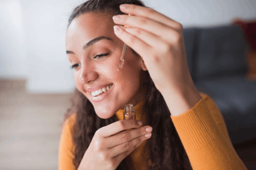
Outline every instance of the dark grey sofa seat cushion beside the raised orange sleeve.
{"type": "Polygon", "coordinates": [[[195,86],[217,104],[232,143],[256,137],[256,82],[239,76],[213,77],[195,86]]]}

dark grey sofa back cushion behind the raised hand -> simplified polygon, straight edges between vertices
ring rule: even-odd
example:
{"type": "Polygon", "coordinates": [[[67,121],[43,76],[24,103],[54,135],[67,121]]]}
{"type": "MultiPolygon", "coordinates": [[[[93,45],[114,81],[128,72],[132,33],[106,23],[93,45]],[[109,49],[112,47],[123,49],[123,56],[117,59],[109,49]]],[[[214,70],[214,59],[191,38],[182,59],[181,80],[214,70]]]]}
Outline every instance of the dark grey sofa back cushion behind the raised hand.
{"type": "Polygon", "coordinates": [[[210,75],[247,72],[243,32],[236,25],[202,28],[198,37],[197,80],[210,75]]]}

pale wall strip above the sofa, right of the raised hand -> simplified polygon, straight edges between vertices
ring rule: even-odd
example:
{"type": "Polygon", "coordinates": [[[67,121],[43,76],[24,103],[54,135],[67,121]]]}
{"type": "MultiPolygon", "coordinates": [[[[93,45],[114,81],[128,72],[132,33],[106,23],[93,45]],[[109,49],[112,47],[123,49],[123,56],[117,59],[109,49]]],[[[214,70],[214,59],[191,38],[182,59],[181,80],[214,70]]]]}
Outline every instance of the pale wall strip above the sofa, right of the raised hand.
{"type": "Polygon", "coordinates": [[[255,0],[149,0],[147,2],[150,7],[180,22],[183,27],[229,24],[235,17],[256,19],[255,0]]]}

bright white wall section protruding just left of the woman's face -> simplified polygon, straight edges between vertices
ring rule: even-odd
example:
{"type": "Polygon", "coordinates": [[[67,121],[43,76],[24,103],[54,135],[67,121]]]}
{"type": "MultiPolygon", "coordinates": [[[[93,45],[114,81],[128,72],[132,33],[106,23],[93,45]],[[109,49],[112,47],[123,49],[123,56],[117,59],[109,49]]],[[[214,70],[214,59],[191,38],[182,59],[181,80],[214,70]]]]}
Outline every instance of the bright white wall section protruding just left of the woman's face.
{"type": "Polygon", "coordinates": [[[29,92],[69,92],[75,87],[65,48],[65,32],[77,2],[22,1],[28,46],[29,92]]]}

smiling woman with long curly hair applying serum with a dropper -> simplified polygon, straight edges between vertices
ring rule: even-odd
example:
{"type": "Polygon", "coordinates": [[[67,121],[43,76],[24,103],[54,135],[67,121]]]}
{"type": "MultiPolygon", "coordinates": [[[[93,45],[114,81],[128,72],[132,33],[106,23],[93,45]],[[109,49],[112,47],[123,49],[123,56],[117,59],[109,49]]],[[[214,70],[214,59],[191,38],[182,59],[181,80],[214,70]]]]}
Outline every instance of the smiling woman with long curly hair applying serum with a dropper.
{"type": "Polygon", "coordinates": [[[87,1],[69,18],[66,49],[77,91],[60,170],[246,169],[219,109],[191,79],[180,23],[138,0],[87,1]],[[128,103],[137,120],[123,120],[128,103]]]}

